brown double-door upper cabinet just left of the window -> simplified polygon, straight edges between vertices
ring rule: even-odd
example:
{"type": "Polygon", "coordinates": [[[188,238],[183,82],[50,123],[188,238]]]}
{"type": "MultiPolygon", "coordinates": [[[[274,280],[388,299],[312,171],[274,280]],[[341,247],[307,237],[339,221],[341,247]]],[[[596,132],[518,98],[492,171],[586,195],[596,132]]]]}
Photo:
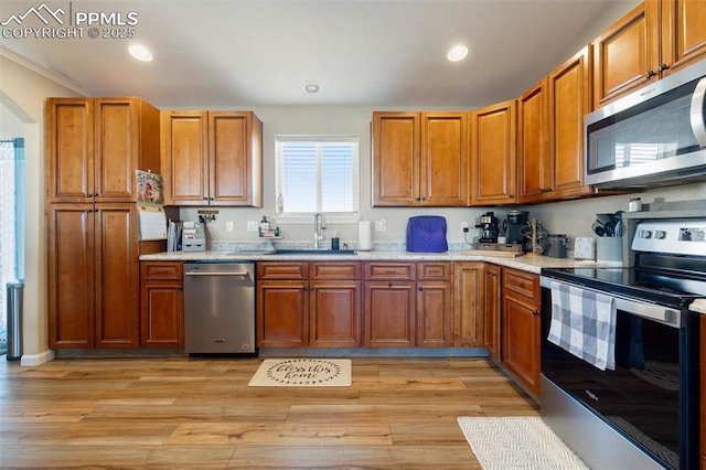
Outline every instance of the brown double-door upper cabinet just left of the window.
{"type": "Polygon", "coordinates": [[[263,122],[250,111],[163,111],[165,204],[263,205],[263,122]]]}

